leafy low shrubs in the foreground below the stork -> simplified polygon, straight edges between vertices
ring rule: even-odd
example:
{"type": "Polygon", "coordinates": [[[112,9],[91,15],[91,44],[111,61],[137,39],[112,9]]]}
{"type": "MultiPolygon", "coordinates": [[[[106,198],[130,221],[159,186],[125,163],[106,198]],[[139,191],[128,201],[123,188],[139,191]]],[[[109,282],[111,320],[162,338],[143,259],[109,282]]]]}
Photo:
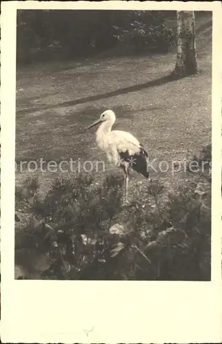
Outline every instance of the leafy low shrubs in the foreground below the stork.
{"type": "MultiPolygon", "coordinates": [[[[199,161],[206,157],[210,146],[199,161]]],[[[170,193],[151,182],[129,206],[119,174],[101,184],[85,175],[56,180],[45,197],[27,180],[16,191],[21,278],[210,280],[210,175],[209,167],[170,193]]]]}

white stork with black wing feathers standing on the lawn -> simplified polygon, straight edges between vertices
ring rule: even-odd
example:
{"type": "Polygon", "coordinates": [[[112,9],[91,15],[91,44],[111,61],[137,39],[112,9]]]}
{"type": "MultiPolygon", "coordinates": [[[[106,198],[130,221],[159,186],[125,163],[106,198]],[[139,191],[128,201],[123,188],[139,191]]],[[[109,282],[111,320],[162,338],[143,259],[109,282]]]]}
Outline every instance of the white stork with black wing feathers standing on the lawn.
{"type": "Polygon", "coordinates": [[[97,129],[97,145],[104,151],[110,162],[116,166],[121,166],[124,176],[124,199],[128,193],[129,169],[132,167],[137,173],[141,173],[145,178],[149,178],[148,172],[148,153],[134,138],[131,133],[121,130],[111,130],[116,120],[116,116],[112,110],[104,111],[99,120],[96,120],[88,128],[99,125],[97,129]]]}

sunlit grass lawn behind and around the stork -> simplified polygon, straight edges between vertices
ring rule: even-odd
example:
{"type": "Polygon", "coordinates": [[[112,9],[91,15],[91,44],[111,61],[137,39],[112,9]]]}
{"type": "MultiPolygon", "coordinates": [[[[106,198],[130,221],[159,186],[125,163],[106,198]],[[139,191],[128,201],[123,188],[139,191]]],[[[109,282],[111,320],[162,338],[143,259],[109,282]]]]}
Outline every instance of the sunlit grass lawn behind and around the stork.
{"type": "MultiPolygon", "coordinates": [[[[165,82],[174,69],[175,52],[154,56],[94,58],[85,63],[43,63],[17,69],[16,161],[105,160],[94,129],[81,133],[105,109],[117,115],[115,129],[130,131],[150,160],[183,160],[211,142],[212,19],[196,19],[196,50],[201,73],[165,82]],[[200,28],[200,29],[199,29],[200,28]],[[157,82],[154,80],[157,80],[157,82]]],[[[106,166],[106,173],[114,168],[106,166]]],[[[16,173],[19,186],[38,175],[46,191],[59,174],[16,173]]],[[[103,175],[97,173],[98,178],[103,175]]],[[[152,172],[151,178],[176,186],[185,173],[152,172]]],[[[134,182],[143,180],[133,174],[134,182]]],[[[134,182],[130,187],[133,188],[134,182]]]]}

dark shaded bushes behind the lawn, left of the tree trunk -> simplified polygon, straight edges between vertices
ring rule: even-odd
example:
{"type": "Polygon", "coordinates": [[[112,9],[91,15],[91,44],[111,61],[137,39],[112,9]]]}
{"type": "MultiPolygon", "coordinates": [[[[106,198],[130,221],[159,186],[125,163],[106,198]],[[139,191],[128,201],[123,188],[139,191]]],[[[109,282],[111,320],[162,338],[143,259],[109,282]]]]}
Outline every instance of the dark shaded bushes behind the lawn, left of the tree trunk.
{"type": "Polygon", "coordinates": [[[114,47],[167,52],[172,17],[176,24],[172,11],[18,10],[17,63],[88,58],[114,47]]]}

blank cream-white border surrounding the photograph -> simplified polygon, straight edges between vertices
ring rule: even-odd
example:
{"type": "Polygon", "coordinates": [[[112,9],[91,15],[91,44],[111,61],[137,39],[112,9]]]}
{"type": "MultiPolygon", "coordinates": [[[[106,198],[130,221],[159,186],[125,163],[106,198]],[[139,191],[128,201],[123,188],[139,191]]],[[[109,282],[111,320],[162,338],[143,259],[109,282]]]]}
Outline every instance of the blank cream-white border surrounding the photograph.
{"type": "Polygon", "coordinates": [[[1,4],[3,343],[221,342],[221,14],[220,1],[7,1],[1,4]],[[210,282],[14,280],[17,9],[82,8],[213,11],[210,282]]]}

